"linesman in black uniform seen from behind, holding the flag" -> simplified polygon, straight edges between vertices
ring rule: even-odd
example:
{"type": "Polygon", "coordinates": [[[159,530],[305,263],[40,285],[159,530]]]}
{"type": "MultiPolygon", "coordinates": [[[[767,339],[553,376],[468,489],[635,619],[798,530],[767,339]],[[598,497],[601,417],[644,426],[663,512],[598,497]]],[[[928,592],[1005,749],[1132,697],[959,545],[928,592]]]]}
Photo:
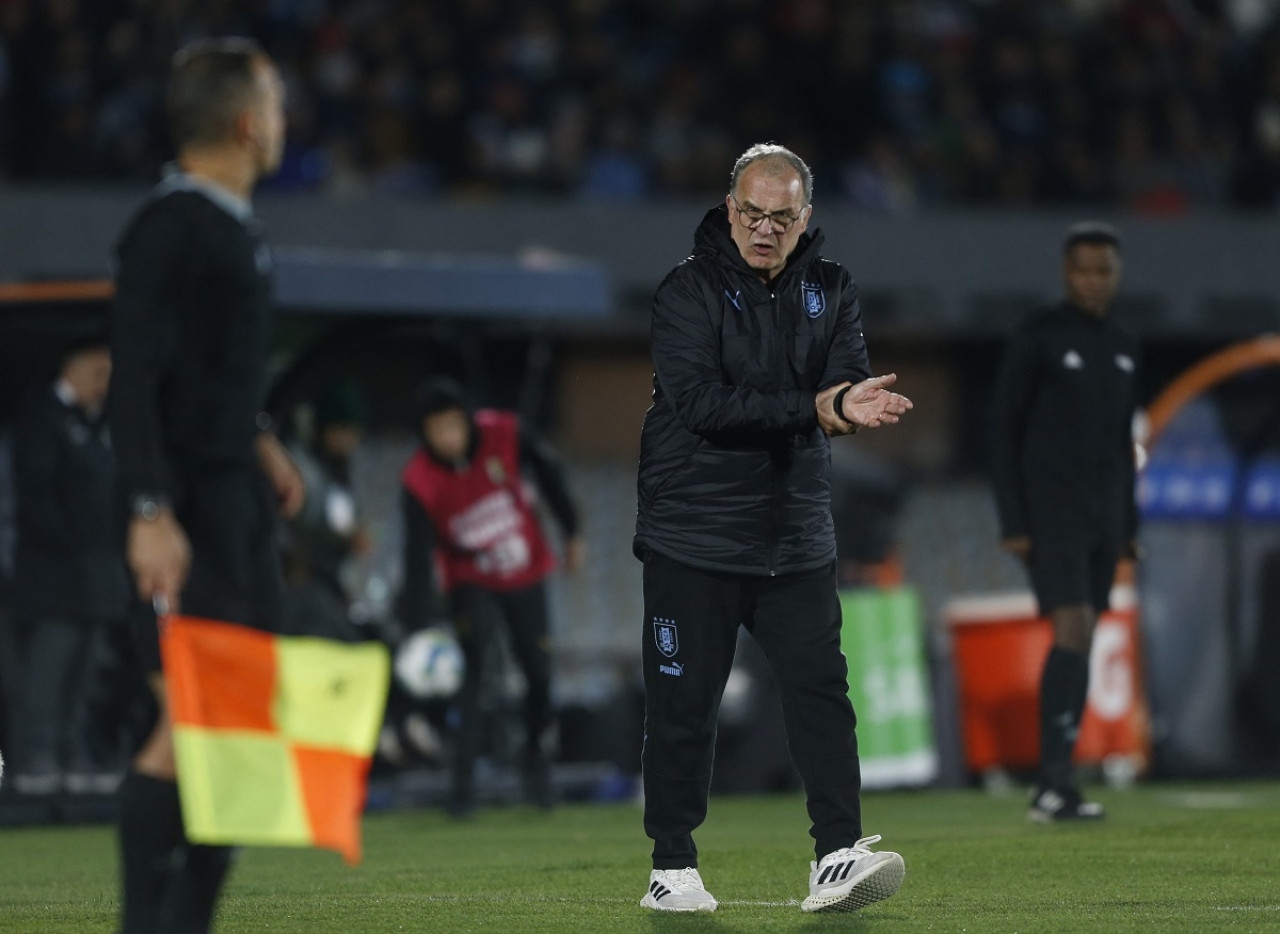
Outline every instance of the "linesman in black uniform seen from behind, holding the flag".
{"type": "Polygon", "coordinates": [[[228,847],[188,844],[164,709],[156,619],[172,612],[273,628],[280,614],[275,512],[301,477],[262,404],[270,252],[250,206],[283,146],[283,87],[246,40],[178,52],[168,96],[178,171],[116,247],[109,418],[127,559],[142,601],[140,653],[160,701],[120,788],[122,930],[205,931],[228,847]]]}

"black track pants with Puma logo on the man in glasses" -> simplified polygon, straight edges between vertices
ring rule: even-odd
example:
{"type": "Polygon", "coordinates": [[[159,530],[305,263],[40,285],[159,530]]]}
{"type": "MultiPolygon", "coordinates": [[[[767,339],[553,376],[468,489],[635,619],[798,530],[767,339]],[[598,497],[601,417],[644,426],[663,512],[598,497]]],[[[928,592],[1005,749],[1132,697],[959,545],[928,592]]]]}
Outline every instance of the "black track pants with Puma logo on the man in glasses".
{"type": "Polygon", "coordinates": [[[773,670],[817,855],[852,846],[861,837],[861,779],[835,564],[741,577],[649,554],[644,601],[644,825],[654,869],[698,865],[692,832],[707,818],[716,718],[739,626],[773,670]]]}

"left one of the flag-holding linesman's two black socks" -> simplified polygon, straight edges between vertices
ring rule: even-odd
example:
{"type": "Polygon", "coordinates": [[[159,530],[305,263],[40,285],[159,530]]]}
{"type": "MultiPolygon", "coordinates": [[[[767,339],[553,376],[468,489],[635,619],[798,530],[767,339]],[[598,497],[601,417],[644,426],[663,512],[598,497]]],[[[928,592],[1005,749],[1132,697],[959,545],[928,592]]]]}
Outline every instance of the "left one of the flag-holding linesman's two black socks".
{"type": "Polygon", "coordinates": [[[156,934],[182,846],[178,786],[129,772],[120,783],[120,934],[156,934]]]}

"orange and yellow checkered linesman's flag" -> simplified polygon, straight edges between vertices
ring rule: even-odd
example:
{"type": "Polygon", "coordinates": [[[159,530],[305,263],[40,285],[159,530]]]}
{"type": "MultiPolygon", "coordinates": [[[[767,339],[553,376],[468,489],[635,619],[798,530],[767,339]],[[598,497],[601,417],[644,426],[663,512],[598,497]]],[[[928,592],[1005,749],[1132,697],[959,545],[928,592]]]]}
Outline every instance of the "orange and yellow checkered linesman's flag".
{"type": "Polygon", "coordinates": [[[160,646],[188,839],[360,862],[387,647],[178,615],[160,646]]]}

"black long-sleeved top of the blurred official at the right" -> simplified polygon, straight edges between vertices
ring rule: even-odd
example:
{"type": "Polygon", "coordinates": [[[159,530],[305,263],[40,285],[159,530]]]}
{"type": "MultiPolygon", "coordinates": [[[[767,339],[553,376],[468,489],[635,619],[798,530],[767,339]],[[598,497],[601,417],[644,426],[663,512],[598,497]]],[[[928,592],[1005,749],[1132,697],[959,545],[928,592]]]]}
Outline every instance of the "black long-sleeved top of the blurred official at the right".
{"type": "Polygon", "coordinates": [[[1005,349],[991,408],[1004,537],[1124,542],[1138,527],[1133,416],[1139,345],[1068,303],[1030,315],[1005,349]]]}

